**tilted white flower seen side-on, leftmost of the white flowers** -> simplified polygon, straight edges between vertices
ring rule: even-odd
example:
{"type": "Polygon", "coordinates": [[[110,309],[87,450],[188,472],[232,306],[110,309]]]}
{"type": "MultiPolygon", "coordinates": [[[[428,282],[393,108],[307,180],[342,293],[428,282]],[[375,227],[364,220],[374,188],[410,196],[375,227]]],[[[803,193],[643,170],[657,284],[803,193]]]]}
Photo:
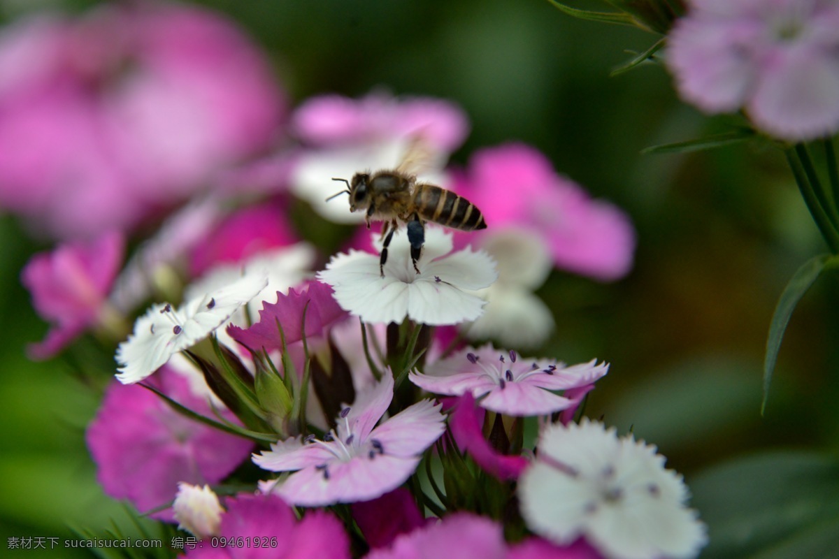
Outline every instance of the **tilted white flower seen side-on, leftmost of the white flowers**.
{"type": "Polygon", "coordinates": [[[227,322],[268,283],[264,276],[248,275],[227,287],[192,298],[175,309],[169,303],[152,305],[134,323],[134,333],[117,348],[122,384],[133,384],[166,364],[227,322]]]}

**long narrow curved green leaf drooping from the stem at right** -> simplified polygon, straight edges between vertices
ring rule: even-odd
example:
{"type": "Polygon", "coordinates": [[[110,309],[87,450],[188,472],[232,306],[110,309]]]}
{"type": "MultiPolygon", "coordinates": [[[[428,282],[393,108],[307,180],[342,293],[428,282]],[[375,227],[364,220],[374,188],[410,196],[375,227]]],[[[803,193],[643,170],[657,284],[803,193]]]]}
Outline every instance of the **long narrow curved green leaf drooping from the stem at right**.
{"type": "Polygon", "coordinates": [[[760,412],[766,409],[766,401],[769,398],[769,384],[772,382],[772,373],[775,369],[775,361],[778,360],[778,350],[781,346],[781,339],[784,339],[784,330],[786,330],[789,318],[792,316],[795,305],[804,296],[805,292],[810,289],[816,277],[819,277],[822,270],[825,269],[827,262],[830,261],[831,256],[823,254],[815,256],[805,262],[805,265],[800,267],[792,279],[789,280],[787,286],[784,287],[784,292],[781,293],[781,298],[778,300],[778,305],[775,307],[775,312],[772,315],[772,322],[769,324],[769,337],[766,339],[766,355],[763,358],[763,403],[760,406],[760,412]]]}

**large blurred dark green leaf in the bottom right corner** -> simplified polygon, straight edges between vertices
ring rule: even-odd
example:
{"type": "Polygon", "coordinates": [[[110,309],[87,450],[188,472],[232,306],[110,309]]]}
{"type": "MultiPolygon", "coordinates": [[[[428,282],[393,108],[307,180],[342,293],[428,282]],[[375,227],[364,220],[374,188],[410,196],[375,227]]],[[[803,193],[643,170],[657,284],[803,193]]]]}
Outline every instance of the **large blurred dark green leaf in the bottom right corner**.
{"type": "Polygon", "coordinates": [[[690,489],[708,525],[703,558],[836,558],[836,457],[790,451],[739,458],[706,470],[690,489]]]}

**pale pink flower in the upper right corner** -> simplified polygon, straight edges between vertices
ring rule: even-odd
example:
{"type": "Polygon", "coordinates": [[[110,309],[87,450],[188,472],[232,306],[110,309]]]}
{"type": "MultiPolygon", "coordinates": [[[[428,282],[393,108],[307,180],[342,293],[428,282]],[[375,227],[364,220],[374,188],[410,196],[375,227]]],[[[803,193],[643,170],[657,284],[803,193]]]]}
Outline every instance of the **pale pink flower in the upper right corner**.
{"type": "Polygon", "coordinates": [[[839,4],[694,0],[670,32],[679,93],[703,111],[741,107],[755,126],[798,142],[839,130],[839,4]]]}

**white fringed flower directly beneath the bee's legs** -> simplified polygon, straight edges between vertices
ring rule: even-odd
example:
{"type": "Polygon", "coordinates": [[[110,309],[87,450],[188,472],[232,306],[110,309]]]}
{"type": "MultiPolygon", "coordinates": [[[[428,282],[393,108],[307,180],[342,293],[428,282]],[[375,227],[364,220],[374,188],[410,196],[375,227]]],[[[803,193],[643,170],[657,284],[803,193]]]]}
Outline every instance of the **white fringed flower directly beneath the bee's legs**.
{"type": "Polygon", "coordinates": [[[333,256],[318,279],[332,286],[341,308],[367,323],[399,323],[406,316],[432,325],[474,320],[484,301],[470,291],[495,281],[495,263],[483,251],[466,248],[449,254],[451,249],[451,234],[426,227],[417,273],[407,236],[399,231],[388,248],[384,277],[378,255],[350,251],[333,256]]]}

